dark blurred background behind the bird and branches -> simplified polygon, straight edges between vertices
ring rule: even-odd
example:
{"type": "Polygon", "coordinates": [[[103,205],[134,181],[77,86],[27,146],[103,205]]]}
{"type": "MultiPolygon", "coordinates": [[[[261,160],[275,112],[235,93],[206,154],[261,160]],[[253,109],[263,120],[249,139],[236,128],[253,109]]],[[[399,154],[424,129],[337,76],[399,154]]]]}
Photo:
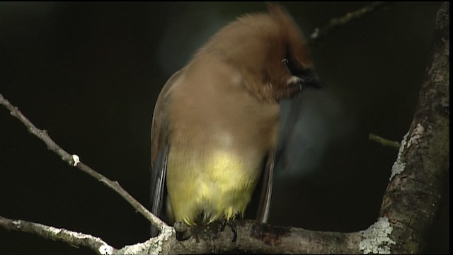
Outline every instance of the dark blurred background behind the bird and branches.
{"type": "MultiPolygon", "coordinates": [[[[368,3],[284,3],[306,35],[368,3]]],[[[440,3],[396,3],[312,48],[321,92],[304,95],[293,163],[278,172],[270,223],[354,232],[379,216],[413,118],[440,3]],[[299,146],[299,147],[297,147],[299,146]],[[294,163],[294,164],[296,164],[294,163]]],[[[216,30],[263,3],[0,3],[0,93],[38,128],[144,205],[150,127],[168,77],[216,30]]],[[[93,234],[120,248],[149,223],[69,167],[0,107],[0,215],[93,234]]],[[[449,183],[429,252],[449,252],[449,183]]],[[[85,254],[0,228],[2,254],[85,254]]]]}

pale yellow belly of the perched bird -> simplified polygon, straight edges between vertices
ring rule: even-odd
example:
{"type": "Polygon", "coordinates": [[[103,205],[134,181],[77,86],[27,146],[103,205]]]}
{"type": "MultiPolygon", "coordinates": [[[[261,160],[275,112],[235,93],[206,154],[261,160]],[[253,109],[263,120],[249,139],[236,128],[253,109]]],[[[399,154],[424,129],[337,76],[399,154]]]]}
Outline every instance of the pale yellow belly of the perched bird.
{"type": "Polygon", "coordinates": [[[243,214],[263,168],[263,156],[232,150],[171,148],[167,189],[175,221],[195,225],[243,214]]]}

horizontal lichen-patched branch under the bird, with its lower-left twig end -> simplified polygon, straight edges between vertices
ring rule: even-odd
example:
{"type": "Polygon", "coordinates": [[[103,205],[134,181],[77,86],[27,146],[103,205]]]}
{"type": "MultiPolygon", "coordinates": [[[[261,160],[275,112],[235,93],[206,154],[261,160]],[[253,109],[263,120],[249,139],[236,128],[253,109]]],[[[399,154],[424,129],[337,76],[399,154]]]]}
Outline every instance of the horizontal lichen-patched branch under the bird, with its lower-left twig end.
{"type": "Polygon", "coordinates": [[[233,233],[220,231],[220,224],[192,227],[193,237],[180,242],[173,227],[165,227],[158,237],[146,242],[114,249],[102,239],[89,234],[49,227],[23,220],[0,217],[6,229],[38,234],[47,239],[86,246],[98,254],[222,254],[242,251],[267,254],[357,254],[377,253],[389,249],[391,227],[380,218],[365,231],[352,233],[310,231],[296,227],[277,227],[253,220],[237,222],[238,239],[231,242],[233,233]]]}

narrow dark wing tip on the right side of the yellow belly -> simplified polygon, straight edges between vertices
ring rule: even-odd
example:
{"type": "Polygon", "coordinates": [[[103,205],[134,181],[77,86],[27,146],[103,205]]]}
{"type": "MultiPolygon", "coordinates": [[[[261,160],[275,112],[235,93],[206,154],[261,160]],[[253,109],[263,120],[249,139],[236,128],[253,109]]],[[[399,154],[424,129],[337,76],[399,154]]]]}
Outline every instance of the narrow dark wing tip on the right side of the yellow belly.
{"type": "Polygon", "coordinates": [[[263,186],[261,188],[260,202],[256,213],[256,220],[261,223],[268,222],[270,211],[270,197],[272,196],[273,175],[274,175],[274,160],[275,154],[271,153],[266,160],[265,169],[263,171],[263,186]]]}

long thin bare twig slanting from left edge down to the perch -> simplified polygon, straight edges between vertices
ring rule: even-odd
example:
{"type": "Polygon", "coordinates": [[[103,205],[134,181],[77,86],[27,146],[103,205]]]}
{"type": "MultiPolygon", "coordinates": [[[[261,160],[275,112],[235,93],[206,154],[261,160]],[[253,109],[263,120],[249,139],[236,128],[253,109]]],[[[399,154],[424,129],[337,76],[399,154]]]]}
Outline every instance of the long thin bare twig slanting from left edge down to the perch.
{"type": "Polygon", "coordinates": [[[91,167],[86,166],[86,164],[80,162],[79,156],[73,154],[69,154],[66,152],[62,147],[59,147],[47,134],[46,130],[40,130],[39,128],[36,128],[33,123],[26,118],[21,111],[18,110],[16,106],[13,106],[11,103],[9,103],[6,98],[3,97],[2,94],[0,94],[0,104],[5,106],[11,115],[16,117],[18,120],[21,120],[21,122],[28,128],[28,132],[32,133],[36,137],[38,137],[42,142],[45,142],[47,145],[47,149],[50,149],[52,152],[55,152],[58,154],[60,157],[62,157],[62,160],[64,162],[67,162],[71,166],[76,166],[78,169],[81,171],[84,171],[86,174],[89,174],[90,176],[93,176],[96,178],[98,181],[101,181],[104,183],[106,186],[110,187],[115,191],[116,193],[120,194],[122,198],[124,198],[130,205],[132,205],[135,210],[140,212],[147,220],[149,220],[154,226],[156,226],[158,229],[164,229],[164,227],[168,227],[165,222],[159,219],[159,217],[156,217],[153,215],[147,208],[145,208],[142,204],[140,204],[135,198],[130,196],[127,191],[125,191],[124,188],[120,186],[120,183],[117,181],[111,181],[110,179],[106,178],[102,174],[99,174],[97,171],[94,171],[91,169],[91,167]]]}

